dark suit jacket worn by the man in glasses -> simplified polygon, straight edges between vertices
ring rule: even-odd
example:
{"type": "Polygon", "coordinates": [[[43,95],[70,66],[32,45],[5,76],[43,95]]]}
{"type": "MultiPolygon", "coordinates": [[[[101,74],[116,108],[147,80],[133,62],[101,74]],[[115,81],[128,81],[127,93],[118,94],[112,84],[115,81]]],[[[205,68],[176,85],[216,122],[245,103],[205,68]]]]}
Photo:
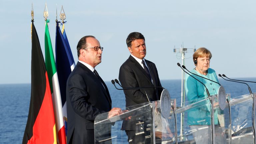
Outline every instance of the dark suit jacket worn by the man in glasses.
{"type": "Polygon", "coordinates": [[[67,143],[94,144],[94,119],[98,114],[111,110],[106,84],[78,62],[68,77],[66,93],[67,143]]]}

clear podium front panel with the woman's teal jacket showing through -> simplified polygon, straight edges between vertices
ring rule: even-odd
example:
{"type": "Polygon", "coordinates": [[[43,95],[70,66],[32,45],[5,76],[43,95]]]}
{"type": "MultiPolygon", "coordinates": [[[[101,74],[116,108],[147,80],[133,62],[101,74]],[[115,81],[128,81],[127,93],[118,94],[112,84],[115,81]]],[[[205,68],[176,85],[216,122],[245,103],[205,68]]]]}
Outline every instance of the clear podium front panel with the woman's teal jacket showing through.
{"type": "MultiPolygon", "coordinates": [[[[183,130],[178,133],[181,144],[212,143],[211,101],[209,98],[186,101],[177,108],[177,115],[183,115],[183,130]]],[[[178,119],[179,122],[179,119],[178,119]]]]}

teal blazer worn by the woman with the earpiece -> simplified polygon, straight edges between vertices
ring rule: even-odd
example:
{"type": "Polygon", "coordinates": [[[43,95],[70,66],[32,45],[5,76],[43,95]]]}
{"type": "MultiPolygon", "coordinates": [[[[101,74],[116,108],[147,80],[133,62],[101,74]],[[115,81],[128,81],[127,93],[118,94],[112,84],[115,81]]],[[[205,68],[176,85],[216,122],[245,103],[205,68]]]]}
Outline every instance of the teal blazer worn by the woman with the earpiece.
{"type": "MultiPolygon", "coordinates": [[[[208,69],[207,75],[202,75],[198,73],[195,69],[191,70],[192,73],[195,73],[197,75],[200,75],[202,77],[208,78],[210,80],[218,81],[217,75],[215,71],[211,68],[208,69]]],[[[195,78],[197,78],[199,81],[205,84],[207,89],[209,90],[210,95],[215,95],[218,93],[218,89],[220,87],[219,84],[211,82],[207,79],[201,78],[199,76],[196,76],[192,74],[195,78]]],[[[198,82],[196,79],[191,77],[190,75],[186,75],[185,79],[185,91],[187,95],[188,101],[190,103],[198,102],[202,99],[207,98],[207,93],[205,90],[204,85],[198,82]]],[[[188,111],[188,125],[210,125],[211,124],[211,104],[210,101],[207,100],[206,104],[192,108],[188,111]]],[[[214,124],[218,124],[218,111],[214,111],[214,124]]]]}

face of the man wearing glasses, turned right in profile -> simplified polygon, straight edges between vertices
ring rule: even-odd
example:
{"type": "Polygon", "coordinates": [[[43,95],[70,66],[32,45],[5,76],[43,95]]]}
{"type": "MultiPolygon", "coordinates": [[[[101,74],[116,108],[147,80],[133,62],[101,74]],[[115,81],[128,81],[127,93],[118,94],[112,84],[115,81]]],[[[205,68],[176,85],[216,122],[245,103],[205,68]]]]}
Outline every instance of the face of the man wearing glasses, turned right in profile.
{"type": "Polygon", "coordinates": [[[101,63],[101,49],[98,49],[98,51],[94,50],[95,46],[100,47],[100,43],[97,39],[88,37],[86,38],[86,43],[88,49],[81,49],[80,53],[83,56],[84,62],[91,65],[92,67],[95,67],[99,63],[101,63]]]}

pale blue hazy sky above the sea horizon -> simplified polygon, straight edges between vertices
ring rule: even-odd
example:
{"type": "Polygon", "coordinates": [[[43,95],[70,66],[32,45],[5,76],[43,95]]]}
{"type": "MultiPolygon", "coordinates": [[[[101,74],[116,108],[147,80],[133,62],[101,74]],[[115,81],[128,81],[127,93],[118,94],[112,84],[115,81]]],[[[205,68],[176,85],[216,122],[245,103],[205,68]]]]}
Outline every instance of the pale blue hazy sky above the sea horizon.
{"type": "MultiPolygon", "coordinates": [[[[93,35],[104,51],[95,67],[104,81],[118,78],[129,57],[126,38],[131,32],[145,37],[145,59],[157,66],[160,80],[181,79],[180,53],[174,48],[206,47],[212,53],[210,67],[230,78],[256,77],[256,1],[254,0],[0,0],[0,84],[31,82],[31,5],[34,25],[44,54],[47,3],[49,31],[55,53],[56,8],[63,5],[65,31],[75,59],[80,38],[93,35]],[[57,4],[57,6],[56,6],[57,4]]],[[[185,66],[193,69],[193,53],[185,66]]]]}

